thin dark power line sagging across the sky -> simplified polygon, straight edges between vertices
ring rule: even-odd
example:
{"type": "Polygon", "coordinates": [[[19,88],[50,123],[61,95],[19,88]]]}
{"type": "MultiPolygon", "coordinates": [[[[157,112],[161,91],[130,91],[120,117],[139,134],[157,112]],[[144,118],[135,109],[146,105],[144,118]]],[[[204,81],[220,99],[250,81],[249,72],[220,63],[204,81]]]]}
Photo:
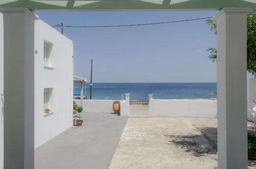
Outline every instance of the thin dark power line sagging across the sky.
{"type": "MultiPolygon", "coordinates": [[[[134,24],[134,25],[110,25],[110,26],[64,26],[66,28],[108,28],[108,27],[136,27],[136,26],[147,26],[147,25],[158,25],[164,23],[175,23],[175,22],[185,22],[185,21],[192,21],[192,20],[201,20],[201,19],[209,19],[212,17],[203,17],[203,18],[195,18],[195,19],[186,19],[186,20],[175,20],[175,21],[166,21],[166,22],[154,22],[154,23],[141,23],[141,24],[134,24]]],[[[52,26],[54,27],[61,27],[60,25],[52,26]]]]}

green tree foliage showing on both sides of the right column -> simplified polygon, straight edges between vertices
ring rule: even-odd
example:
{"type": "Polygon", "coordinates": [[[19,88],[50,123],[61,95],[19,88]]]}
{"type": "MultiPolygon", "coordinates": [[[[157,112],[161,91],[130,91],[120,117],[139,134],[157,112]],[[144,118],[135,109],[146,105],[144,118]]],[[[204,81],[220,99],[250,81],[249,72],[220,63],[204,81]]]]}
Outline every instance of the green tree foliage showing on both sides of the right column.
{"type": "MultiPolygon", "coordinates": [[[[210,30],[217,35],[217,23],[212,19],[207,19],[206,24],[210,26],[210,30]]],[[[208,56],[213,62],[217,61],[217,50],[215,47],[209,47],[208,56]]],[[[256,11],[247,15],[247,70],[249,73],[256,72],[256,11]]]]}

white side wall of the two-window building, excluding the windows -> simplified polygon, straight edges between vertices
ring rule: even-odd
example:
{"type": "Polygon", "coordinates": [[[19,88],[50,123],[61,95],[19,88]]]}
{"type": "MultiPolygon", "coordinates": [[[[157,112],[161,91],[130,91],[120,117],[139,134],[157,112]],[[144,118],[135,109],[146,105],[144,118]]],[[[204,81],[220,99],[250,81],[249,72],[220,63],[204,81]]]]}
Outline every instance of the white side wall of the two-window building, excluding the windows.
{"type": "Polygon", "coordinates": [[[72,126],[73,42],[41,20],[35,21],[35,148],[72,126]],[[53,68],[44,67],[44,41],[53,43],[53,68]],[[44,114],[44,88],[53,88],[53,113],[44,114]]]}

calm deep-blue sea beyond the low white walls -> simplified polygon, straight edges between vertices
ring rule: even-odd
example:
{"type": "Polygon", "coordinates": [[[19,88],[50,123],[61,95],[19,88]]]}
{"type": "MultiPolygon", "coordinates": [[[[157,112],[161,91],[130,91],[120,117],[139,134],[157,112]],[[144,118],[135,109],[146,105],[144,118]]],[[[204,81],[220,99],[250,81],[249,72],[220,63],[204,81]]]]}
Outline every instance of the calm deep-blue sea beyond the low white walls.
{"type": "MultiPolygon", "coordinates": [[[[93,99],[119,100],[121,94],[130,93],[131,100],[216,98],[207,93],[217,91],[217,83],[94,83],[93,99]]],[[[74,94],[80,93],[80,84],[74,83],[74,94]]],[[[84,85],[84,92],[90,98],[90,84],[84,85]]],[[[85,94],[84,94],[85,95],[85,94]]]]}

